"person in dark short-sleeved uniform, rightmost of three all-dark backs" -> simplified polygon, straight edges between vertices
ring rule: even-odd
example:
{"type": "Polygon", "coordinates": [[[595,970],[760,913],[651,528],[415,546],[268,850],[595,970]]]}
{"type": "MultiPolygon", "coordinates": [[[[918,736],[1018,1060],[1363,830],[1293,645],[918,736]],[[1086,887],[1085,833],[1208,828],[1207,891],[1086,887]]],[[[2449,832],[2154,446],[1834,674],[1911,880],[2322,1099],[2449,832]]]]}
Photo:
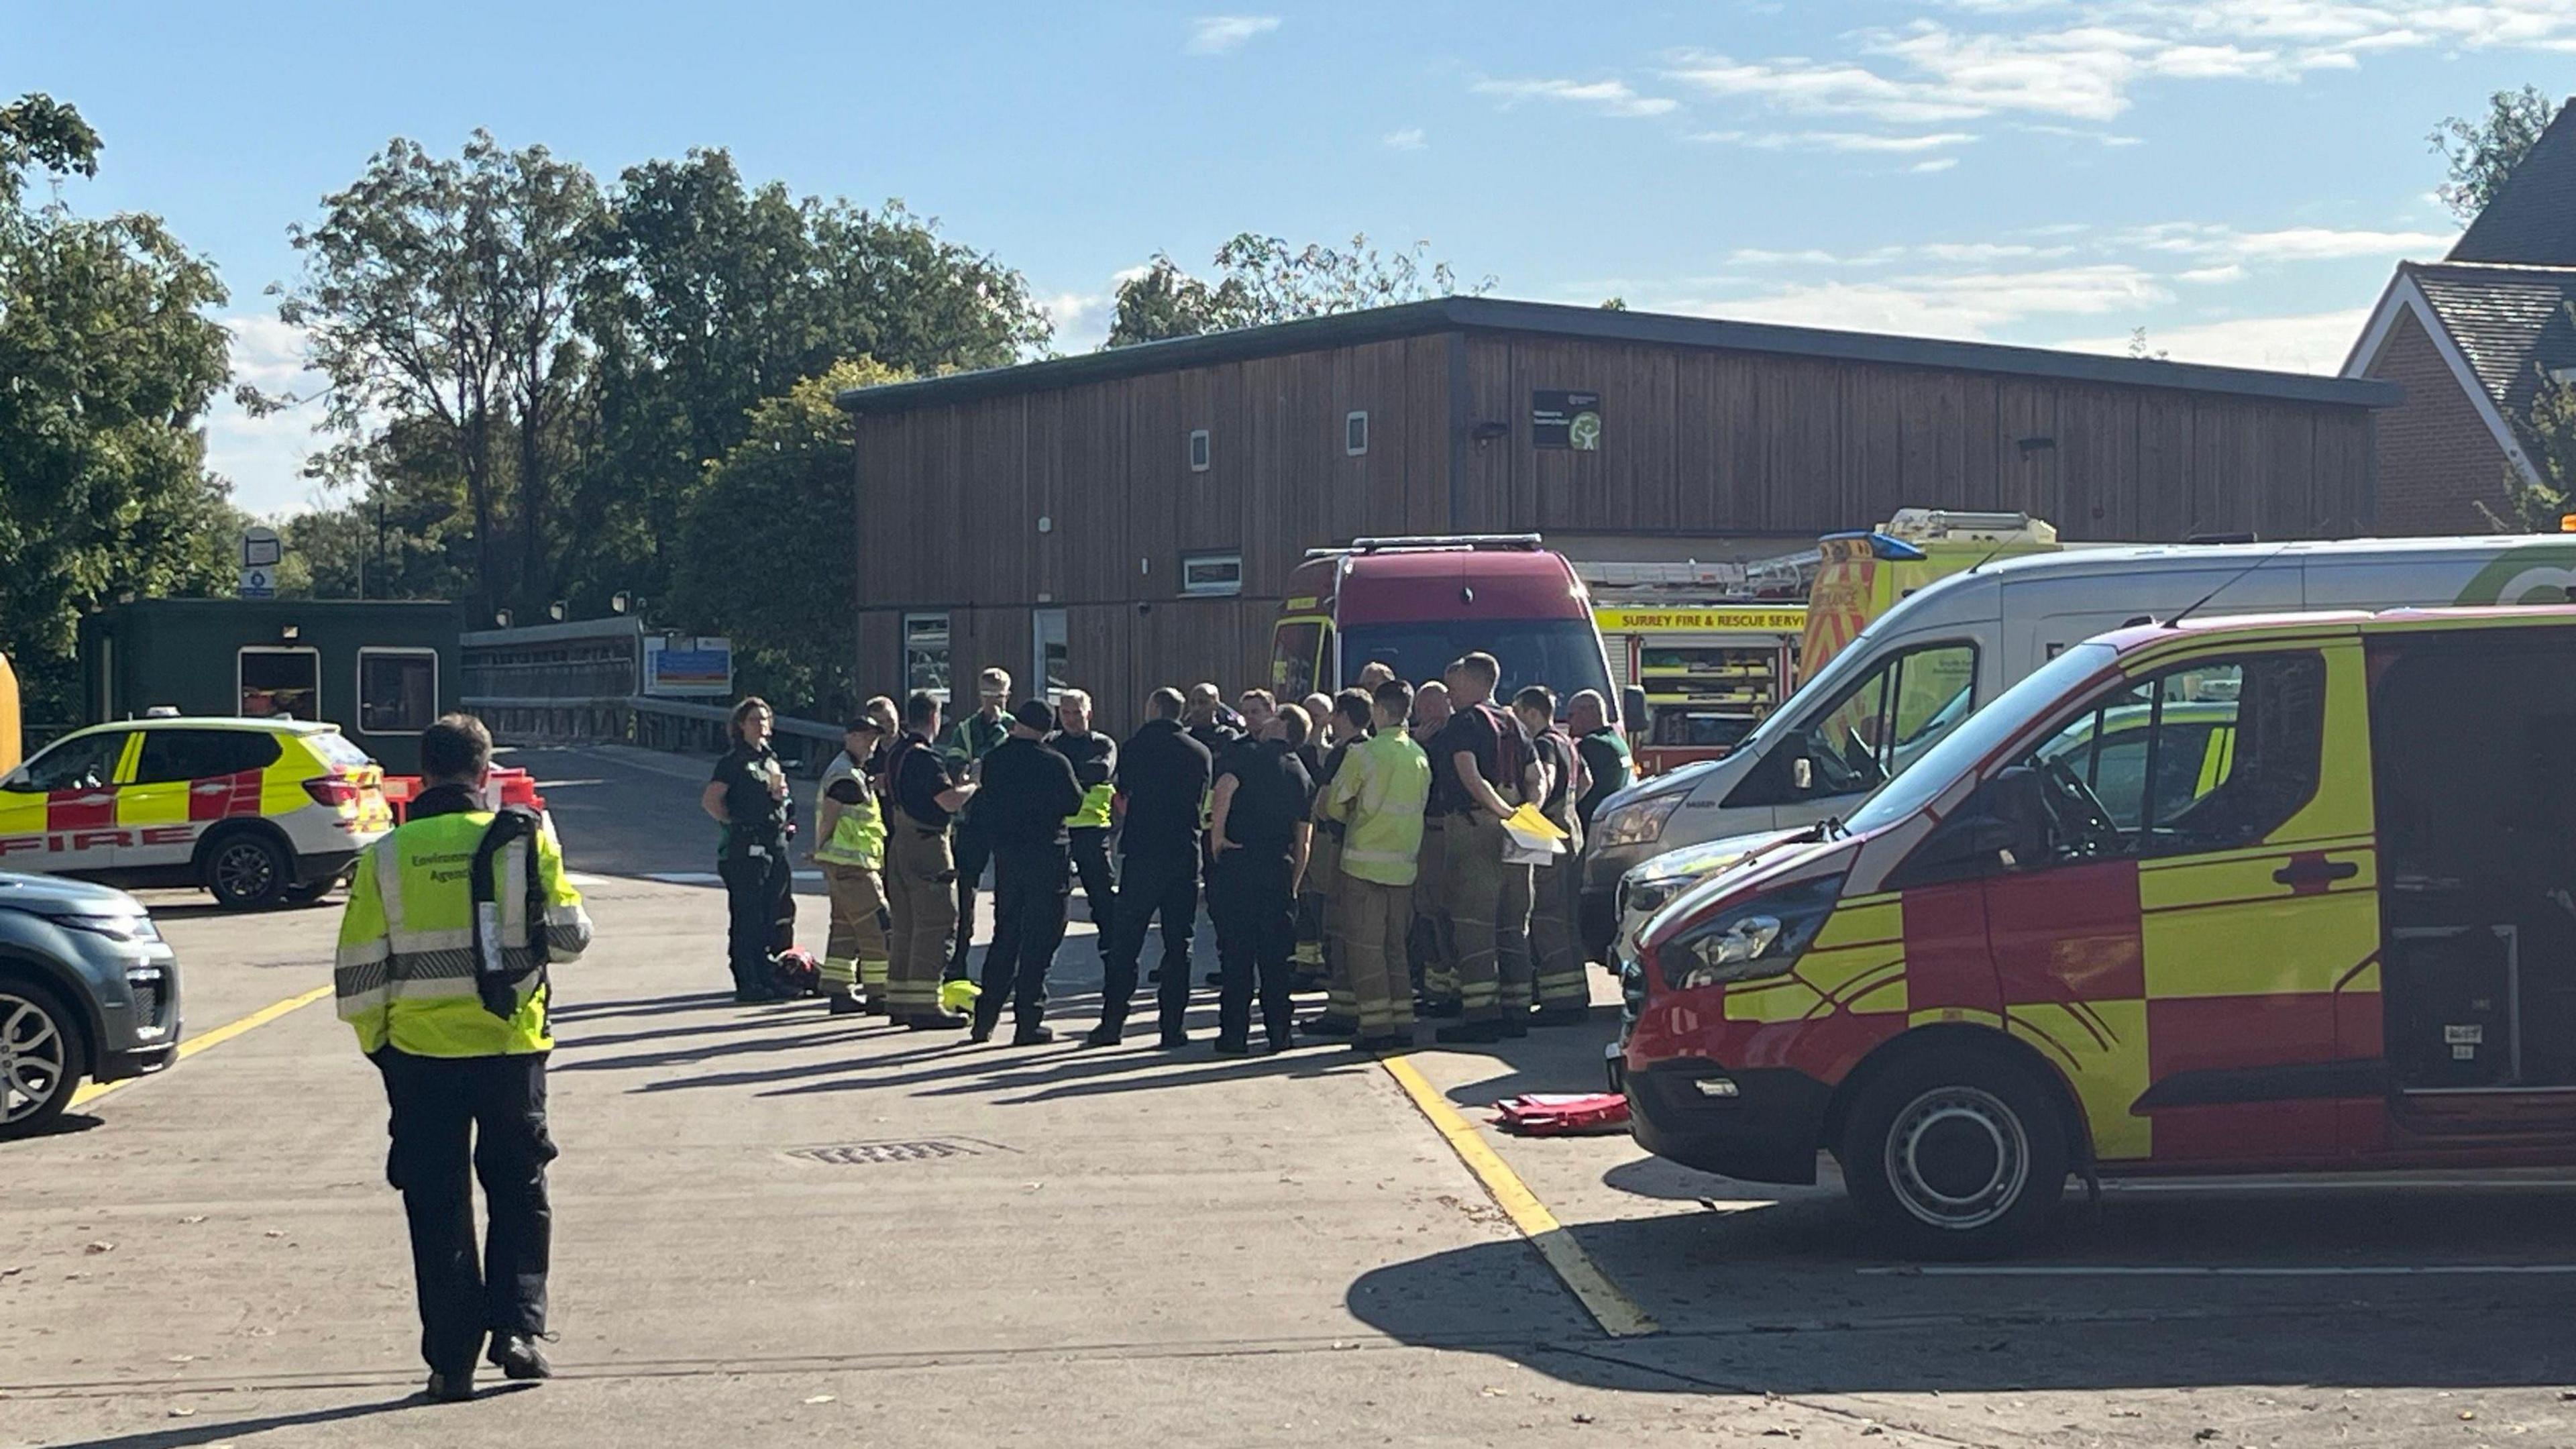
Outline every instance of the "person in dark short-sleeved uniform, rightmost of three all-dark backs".
{"type": "Polygon", "coordinates": [[[1252,1049],[1255,990],[1270,1049],[1285,1052],[1296,1044],[1288,954],[1296,949],[1296,887],[1314,843],[1314,779],[1298,763],[1296,748],[1309,735],[1314,722],[1303,706],[1291,704],[1265,722],[1257,740],[1226,750],[1226,761],[1216,768],[1208,828],[1216,869],[1208,877],[1208,908],[1216,913],[1216,951],[1224,967],[1216,1049],[1226,1057],[1252,1049]]]}

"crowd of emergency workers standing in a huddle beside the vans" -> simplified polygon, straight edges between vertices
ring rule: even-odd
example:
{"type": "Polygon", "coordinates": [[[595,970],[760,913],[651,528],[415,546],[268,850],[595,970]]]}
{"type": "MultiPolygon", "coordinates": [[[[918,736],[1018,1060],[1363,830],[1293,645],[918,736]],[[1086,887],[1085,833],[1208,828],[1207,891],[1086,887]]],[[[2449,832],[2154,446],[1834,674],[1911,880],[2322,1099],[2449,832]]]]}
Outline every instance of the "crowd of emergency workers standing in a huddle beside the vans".
{"type": "MultiPolygon", "coordinates": [[[[1092,730],[1084,691],[1010,704],[1010,676],[976,678],[976,712],[943,727],[935,694],[902,714],[871,699],[824,768],[814,861],[832,900],[822,982],[832,1013],[889,1016],[914,1031],[1051,1042],[1046,975],[1074,879],[1100,931],[1103,1006],[1084,1044],[1126,1034],[1146,933],[1159,1042],[1190,1042],[1190,944],[1200,897],[1216,926],[1216,1049],[1296,1042],[1293,993],[1324,990],[1314,1036],[1404,1047],[1417,1016],[1455,1018],[1440,1042],[1497,1042],[1530,1024],[1582,1021],[1589,982],[1574,915],[1584,822],[1628,784],[1628,745],[1584,691],[1494,699],[1492,655],[1455,660],[1414,688],[1368,665],[1340,696],[1280,704],[1213,683],[1157,688],[1126,743],[1092,730]],[[1507,820],[1535,807],[1561,853],[1525,864],[1507,820]],[[1115,841],[1115,864],[1110,859],[1115,841]],[[981,985],[969,941],[992,866],[994,933],[981,985]]],[[[750,838],[760,869],[729,864],[734,982],[768,987],[760,954],[781,941],[781,830],[791,807],[768,753],[768,706],[737,709],[737,745],[708,784],[726,851],[750,838]],[[752,784],[744,784],[752,781],[752,784]]],[[[732,861],[732,856],[729,856],[732,861]]]]}

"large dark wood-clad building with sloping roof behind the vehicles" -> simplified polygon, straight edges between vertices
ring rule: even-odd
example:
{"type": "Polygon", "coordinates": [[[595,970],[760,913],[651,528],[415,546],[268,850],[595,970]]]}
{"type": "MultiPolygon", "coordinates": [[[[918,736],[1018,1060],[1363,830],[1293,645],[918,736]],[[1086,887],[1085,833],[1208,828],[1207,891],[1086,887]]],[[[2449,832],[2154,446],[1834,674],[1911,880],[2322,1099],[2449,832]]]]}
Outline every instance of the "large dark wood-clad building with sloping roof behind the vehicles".
{"type": "Polygon", "coordinates": [[[1267,678],[1306,549],[1780,554],[1904,505],[2347,536],[2385,382],[1453,297],[840,394],[863,691],[1267,678]]]}

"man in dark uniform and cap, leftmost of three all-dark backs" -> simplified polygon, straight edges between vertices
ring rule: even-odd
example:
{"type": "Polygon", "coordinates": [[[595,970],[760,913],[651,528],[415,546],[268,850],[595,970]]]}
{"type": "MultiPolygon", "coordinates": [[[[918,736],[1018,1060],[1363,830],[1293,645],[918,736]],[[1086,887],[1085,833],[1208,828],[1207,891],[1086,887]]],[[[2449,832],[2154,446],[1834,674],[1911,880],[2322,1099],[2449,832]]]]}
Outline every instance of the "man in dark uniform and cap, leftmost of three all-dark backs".
{"type": "Polygon", "coordinates": [[[1023,699],[1010,712],[1010,737],[984,755],[974,812],[992,841],[992,946],[984,949],[984,995],[974,1039],[989,1042],[1002,1006],[1015,1013],[1012,1047],[1054,1042],[1046,1016],[1046,972],[1064,944],[1064,817],[1082,807],[1074,766],[1046,748],[1056,712],[1023,699]]]}

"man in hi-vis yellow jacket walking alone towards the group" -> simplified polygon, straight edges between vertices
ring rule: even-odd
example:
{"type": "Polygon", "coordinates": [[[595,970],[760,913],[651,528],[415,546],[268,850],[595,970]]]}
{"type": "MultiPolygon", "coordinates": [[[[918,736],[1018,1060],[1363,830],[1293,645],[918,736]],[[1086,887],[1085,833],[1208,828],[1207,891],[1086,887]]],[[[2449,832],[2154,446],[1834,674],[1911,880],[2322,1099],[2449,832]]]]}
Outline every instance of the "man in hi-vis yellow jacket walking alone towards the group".
{"type": "Polygon", "coordinates": [[[492,812],[492,735],[443,714],[420,735],[428,789],[410,820],[358,853],[332,987],[340,1021],[384,1073],[394,1109],[386,1181],[402,1189],[433,1400],[474,1397],[474,1354],[513,1379],[554,1369],[546,1333],[546,964],[590,946],[554,828],[492,812]],[[474,1253],[474,1178],[492,1217],[474,1253]]]}

